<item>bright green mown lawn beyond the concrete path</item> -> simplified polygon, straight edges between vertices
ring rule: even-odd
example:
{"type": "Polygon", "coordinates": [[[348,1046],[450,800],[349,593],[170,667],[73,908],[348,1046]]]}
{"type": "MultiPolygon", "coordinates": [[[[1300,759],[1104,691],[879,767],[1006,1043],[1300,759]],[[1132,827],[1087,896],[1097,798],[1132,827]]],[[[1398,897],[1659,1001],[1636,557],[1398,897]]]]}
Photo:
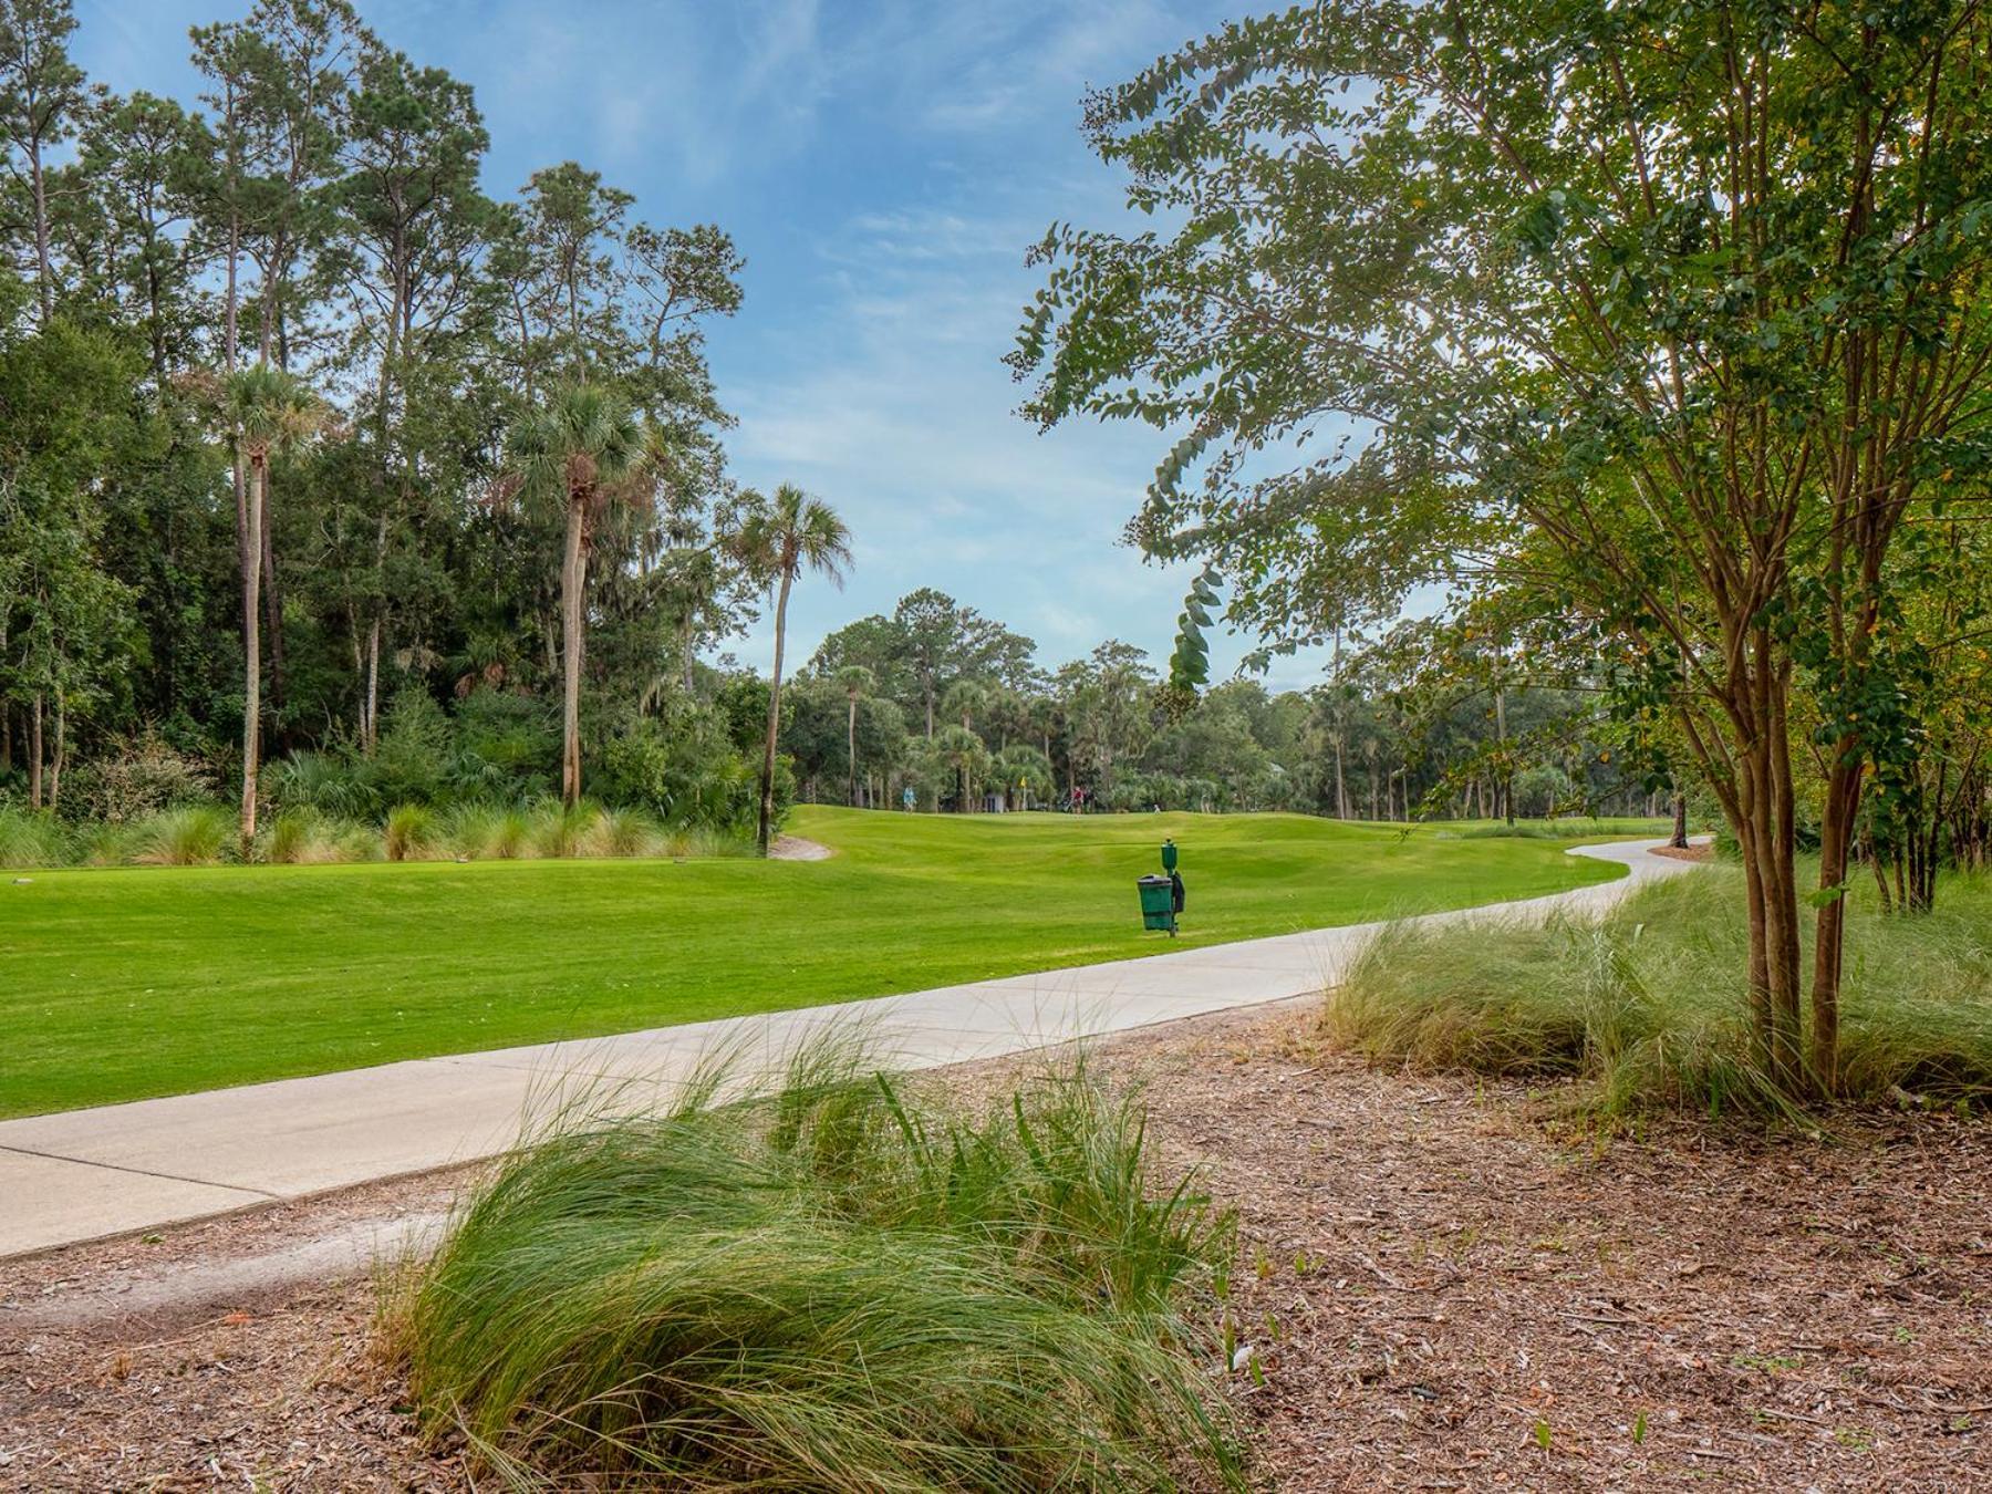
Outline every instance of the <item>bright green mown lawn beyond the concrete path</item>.
{"type": "Polygon", "coordinates": [[[839,855],[8,874],[0,1116],[1153,954],[1133,878],[1165,835],[1175,948],[1616,874],[1564,841],[1299,815],[805,807],[791,831],[839,855]]]}

